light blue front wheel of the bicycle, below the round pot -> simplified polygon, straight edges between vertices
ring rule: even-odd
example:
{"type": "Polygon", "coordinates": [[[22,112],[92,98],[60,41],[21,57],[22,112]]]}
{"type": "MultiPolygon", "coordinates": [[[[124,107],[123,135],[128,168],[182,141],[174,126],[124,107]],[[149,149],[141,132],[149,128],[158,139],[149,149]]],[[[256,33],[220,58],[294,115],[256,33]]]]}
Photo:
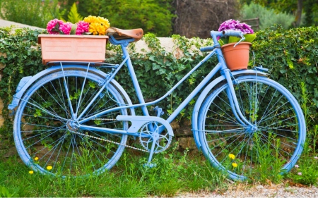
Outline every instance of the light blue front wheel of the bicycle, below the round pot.
{"type": "Polygon", "coordinates": [[[266,173],[286,173],[305,143],[305,118],[298,102],[282,85],[266,77],[245,75],[234,85],[243,116],[237,119],[228,84],[206,95],[199,113],[199,141],[211,164],[234,180],[266,173]]]}

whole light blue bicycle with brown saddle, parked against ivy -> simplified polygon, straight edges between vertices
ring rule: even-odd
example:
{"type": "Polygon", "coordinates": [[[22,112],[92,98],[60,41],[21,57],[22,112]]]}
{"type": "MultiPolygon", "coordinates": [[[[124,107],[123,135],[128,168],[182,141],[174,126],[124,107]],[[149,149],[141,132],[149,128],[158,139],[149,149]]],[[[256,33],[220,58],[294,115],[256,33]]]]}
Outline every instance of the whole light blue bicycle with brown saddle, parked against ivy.
{"type": "MultiPolygon", "coordinates": [[[[34,171],[49,175],[103,173],[114,166],[129,147],[153,154],[165,151],[174,136],[170,123],[199,94],[192,113],[194,140],[212,166],[234,180],[245,180],[262,165],[267,152],[281,173],[290,171],[305,143],[305,118],[298,101],[282,85],[268,78],[266,69],[227,68],[217,37],[243,37],[237,31],[211,31],[211,51],[169,92],[145,102],[126,47],[141,39],[143,32],[110,28],[110,42],[120,45],[119,64],[66,62],[20,80],[9,109],[16,109],[14,140],[23,162],[34,171]],[[136,34],[138,32],[138,34],[136,34]],[[211,56],[218,64],[167,119],[150,116],[147,106],[170,95],[211,56]],[[97,66],[108,68],[103,72],[97,66]],[[126,66],[139,104],[114,80],[126,66]],[[216,73],[220,76],[212,80],[216,73]],[[141,109],[142,115],[136,115],[141,109]],[[140,145],[128,144],[128,137],[140,145]]],[[[268,162],[269,163],[269,162],[268,162]]],[[[271,168],[271,164],[266,164],[271,168]]]]}

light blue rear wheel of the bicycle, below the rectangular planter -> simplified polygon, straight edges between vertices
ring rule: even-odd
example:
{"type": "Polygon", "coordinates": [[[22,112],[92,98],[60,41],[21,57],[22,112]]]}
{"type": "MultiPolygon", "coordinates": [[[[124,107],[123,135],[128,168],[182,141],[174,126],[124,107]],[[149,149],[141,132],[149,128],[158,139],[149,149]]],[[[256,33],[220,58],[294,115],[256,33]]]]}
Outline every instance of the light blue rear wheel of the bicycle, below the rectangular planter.
{"type": "MultiPolygon", "coordinates": [[[[46,75],[25,92],[13,133],[18,154],[27,166],[61,176],[100,174],[114,166],[124,151],[127,135],[81,130],[72,116],[72,112],[81,115],[104,81],[85,70],[64,70],[46,75]]],[[[129,99],[123,97],[110,83],[83,118],[124,105],[129,99]]],[[[112,111],[85,125],[126,130],[128,123],[115,118],[127,113],[126,109],[112,111]]]]}

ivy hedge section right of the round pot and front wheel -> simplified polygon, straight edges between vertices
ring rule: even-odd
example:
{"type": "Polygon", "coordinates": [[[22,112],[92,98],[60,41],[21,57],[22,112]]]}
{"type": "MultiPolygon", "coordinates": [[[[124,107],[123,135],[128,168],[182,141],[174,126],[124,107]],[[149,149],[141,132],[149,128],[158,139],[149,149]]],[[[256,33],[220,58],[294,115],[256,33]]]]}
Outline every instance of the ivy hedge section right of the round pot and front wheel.
{"type": "Polygon", "coordinates": [[[307,125],[313,128],[318,112],[318,27],[276,28],[257,33],[253,43],[256,63],[269,68],[271,78],[294,94],[307,125]]]}

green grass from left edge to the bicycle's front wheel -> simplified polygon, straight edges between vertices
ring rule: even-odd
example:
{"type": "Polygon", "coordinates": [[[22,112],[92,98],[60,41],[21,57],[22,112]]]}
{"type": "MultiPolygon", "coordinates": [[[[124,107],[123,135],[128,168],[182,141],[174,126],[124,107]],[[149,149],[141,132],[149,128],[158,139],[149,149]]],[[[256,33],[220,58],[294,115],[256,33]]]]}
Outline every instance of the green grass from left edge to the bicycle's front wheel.
{"type": "Polygon", "coordinates": [[[168,152],[155,156],[157,166],[144,168],[146,158],[126,151],[112,171],[87,178],[30,174],[17,155],[2,157],[0,197],[173,197],[179,192],[228,188],[225,176],[203,156],[189,156],[188,151],[173,148],[168,152]]]}

